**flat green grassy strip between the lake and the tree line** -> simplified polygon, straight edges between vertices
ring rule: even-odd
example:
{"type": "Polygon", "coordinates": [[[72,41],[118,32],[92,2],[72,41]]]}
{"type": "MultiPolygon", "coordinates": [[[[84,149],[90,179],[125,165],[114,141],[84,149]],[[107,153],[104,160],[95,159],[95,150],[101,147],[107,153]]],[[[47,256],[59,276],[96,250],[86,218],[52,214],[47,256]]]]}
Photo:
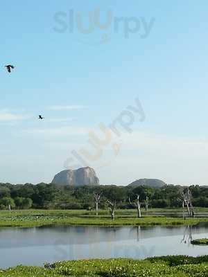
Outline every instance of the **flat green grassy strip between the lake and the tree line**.
{"type": "MultiPolygon", "coordinates": [[[[160,211],[162,212],[162,211],[160,211]]],[[[111,220],[107,211],[96,217],[94,211],[0,211],[0,227],[34,227],[51,224],[94,225],[94,226],[180,226],[208,222],[208,217],[187,218],[153,215],[153,212],[137,218],[135,210],[120,210],[116,219],[111,220]]]]}

